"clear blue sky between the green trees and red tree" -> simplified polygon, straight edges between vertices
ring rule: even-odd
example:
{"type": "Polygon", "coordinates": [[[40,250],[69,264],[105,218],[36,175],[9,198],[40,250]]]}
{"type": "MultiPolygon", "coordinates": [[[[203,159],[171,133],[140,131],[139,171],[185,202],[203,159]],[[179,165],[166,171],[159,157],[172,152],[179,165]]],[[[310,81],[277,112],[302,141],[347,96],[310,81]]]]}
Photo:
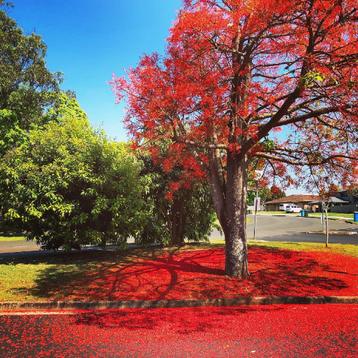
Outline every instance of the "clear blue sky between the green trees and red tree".
{"type": "Polygon", "coordinates": [[[115,106],[106,81],[124,74],[142,53],[164,53],[168,28],[180,0],[12,0],[9,14],[25,32],[35,30],[48,46],[46,62],[66,78],[92,124],[126,140],[123,107],[115,106]]]}

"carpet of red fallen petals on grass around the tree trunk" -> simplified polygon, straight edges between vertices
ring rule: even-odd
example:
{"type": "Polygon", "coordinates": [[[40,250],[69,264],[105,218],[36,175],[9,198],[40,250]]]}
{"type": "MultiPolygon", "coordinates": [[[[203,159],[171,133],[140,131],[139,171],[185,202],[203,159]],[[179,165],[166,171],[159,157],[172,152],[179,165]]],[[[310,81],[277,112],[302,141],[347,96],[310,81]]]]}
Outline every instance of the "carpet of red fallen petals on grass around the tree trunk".
{"type": "Polygon", "coordinates": [[[172,249],[160,256],[133,251],[121,262],[87,264],[77,272],[52,267],[30,293],[39,300],[358,296],[358,258],[352,256],[254,246],[245,280],[226,277],[224,260],[224,248],[172,249]]]}

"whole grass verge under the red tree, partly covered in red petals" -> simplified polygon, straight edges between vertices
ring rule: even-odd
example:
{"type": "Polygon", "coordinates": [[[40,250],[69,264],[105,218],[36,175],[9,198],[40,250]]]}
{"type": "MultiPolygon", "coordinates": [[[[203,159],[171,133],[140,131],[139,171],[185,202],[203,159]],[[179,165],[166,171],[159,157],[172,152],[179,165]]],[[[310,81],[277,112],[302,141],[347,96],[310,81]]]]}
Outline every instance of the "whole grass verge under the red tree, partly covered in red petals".
{"type": "Polygon", "coordinates": [[[248,242],[251,275],[226,277],[223,240],[0,259],[0,300],[358,296],[358,246],[248,242]]]}

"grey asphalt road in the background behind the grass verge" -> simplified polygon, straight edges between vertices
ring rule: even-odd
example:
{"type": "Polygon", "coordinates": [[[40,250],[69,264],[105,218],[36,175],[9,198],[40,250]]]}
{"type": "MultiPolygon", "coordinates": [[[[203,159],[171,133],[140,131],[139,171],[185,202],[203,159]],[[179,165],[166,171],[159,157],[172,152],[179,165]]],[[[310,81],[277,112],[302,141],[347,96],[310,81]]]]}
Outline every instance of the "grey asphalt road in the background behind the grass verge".
{"type": "MultiPolygon", "coordinates": [[[[247,238],[253,239],[254,216],[251,223],[247,224],[247,238]]],[[[303,218],[300,216],[257,216],[256,239],[265,241],[296,241],[296,242],[324,242],[324,234],[307,234],[309,231],[322,230],[319,218],[303,218]]],[[[358,244],[358,225],[345,223],[340,220],[329,220],[329,230],[349,231],[351,235],[329,235],[332,244],[358,244]]],[[[223,239],[218,230],[213,230],[211,239],[223,239]]],[[[84,248],[93,250],[95,248],[84,248]]],[[[10,256],[28,256],[34,254],[46,254],[53,251],[39,251],[39,246],[34,241],[0,241],[0,258],[10,256]]]]}

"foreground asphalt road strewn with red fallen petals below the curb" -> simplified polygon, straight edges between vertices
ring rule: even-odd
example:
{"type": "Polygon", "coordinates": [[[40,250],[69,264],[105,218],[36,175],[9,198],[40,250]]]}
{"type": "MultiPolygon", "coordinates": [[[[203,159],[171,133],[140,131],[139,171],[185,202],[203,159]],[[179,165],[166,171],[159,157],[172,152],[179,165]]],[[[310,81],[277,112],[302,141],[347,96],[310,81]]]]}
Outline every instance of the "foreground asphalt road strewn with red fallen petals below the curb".
{"type": "Polygon", "coordinates": [[[0,316],[1,357],[358,356],[358,305],[0,316]]]}

